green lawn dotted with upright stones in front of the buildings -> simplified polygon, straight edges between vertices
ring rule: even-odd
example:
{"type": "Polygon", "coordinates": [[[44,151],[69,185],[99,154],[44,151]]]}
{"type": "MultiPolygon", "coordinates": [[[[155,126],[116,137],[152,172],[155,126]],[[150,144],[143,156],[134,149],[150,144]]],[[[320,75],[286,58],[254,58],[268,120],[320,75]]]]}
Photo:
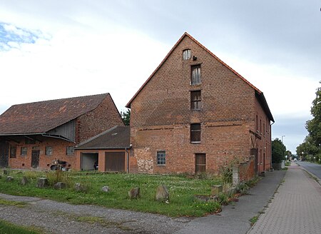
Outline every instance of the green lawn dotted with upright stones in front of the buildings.
{"type": "MultiPolygon", "coordinates": [[[[2,172],[0,171],[0,174],[2,172]]],[[[93,204],[107,208],[120,208],[148,213],[159,213],[168,216],[203,216],[215,213],[220,208],[219,202],[205,202],[194,198],[194,195],[210,195],[211,185],[222,184],[215,177],[202,179],[188,178],[184,175],[143,175],[123,173],[71,173],[71,172],[36,172],[9,171],[14,180],[6,181],[7,175],[0,179],[1,193],[11,195],[26,195],[48,198],[72,204],[93,204]],[[20,185],[23,176],[29,183],[20,185]],[[37,179],[49,179],[49,188],[36,188],[37,179]],[[56,181],[64,181],[67,188],[55,190],[52,185],[56,181]],[[74,190],[75,183],[81,183],[86,188],[84,192],[74,190]],[[101,191],[108,185],[110,192],[101,191]],[[169,203],[158,202],[155,199],[158,185],[166,185],[170,193],[169,203]],[[141,198],[131,200],[128,190],[141,188],[141,198]]],[[[224,200],[225,198],[223,198],[224,200]]]]}

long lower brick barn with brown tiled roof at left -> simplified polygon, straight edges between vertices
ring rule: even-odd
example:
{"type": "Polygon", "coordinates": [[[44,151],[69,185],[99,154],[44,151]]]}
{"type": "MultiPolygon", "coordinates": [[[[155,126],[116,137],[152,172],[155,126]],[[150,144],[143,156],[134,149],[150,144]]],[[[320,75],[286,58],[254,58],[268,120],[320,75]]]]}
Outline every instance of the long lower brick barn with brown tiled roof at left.
{"type": "Polygon", "coordinates": [[[74,146],[123,126],[109,93],[11,106],[0,116],[0,167],[49,169],[54,159],[76,168],[74,146]]]}

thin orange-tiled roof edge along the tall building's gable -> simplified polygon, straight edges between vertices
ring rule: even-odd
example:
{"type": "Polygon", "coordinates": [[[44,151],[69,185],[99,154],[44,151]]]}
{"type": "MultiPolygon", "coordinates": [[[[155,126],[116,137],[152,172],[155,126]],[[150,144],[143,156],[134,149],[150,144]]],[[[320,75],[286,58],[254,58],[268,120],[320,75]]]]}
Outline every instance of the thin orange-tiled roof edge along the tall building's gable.
{"type": "MultiPolygon", "coordinates": [[[[158,71],[159,68],[161,68],[161,66],[163,65],[163,63],[165,63],[166,59],[168,59],[168,57],[170,56],[170,54],[173,53],[173,51],[175,50],[175,48],[178,46],[178,44],[180,44],[181,41],[183,41],[184,37],[188,36],[188,38],[190,38],[192,41],[195,42],[195,44],[198,44],[198,46],[200,46],[201,48],[203,48],[205,51],[207,51],[211,56],[213,56],[215,59],[217,59],[220,63],[222,63],[225,67],[227,67],[228,69],[230,69],[230,71],[232,71],[233,73],[235,73],[236,76],[238,76],[240,79],[242,79],[245,83],[248,83],[248,85],[250,87],[252,87],[255,90],[255,93],[257,93],[262,99],[265,101],[265,97],[263,95],[263,92],[261,92],[258,88],[256,88],[255,86],[253,86],[252,83],[250,83],[248,80],[246,80],[243,76],[241,76],[238,72],[236,72],[235,70],[233,70],[233,68],[231,68],[230,66],[228,66],[228,64],[224,63],[222,60],[220,60],[218,58],[218,56],[215,56],[215,54],[213,54],[211,51],[209,51],[205,46],[203,46],[202,44],[200,44],[196,39],[193,38],[193,36],[190,36],[190,34],[188,34],[187,32],[185,32],[183,34],[183,36],[180,37],[180,39],[178,39],[178,41],[176,42],[176,44],[173,46],[172,49],[170,49],[170,51],[168,52],[168,54],[165,56],[165,58],[163,59],[163,61],[161,61],[161,63],[158,65],[158,67],[155,69],[155,71],[153,71],[153,73],[151,74],[151,76],[148,77],[148,79],[145,81],[145,83],[143,83],[143,86],[141,86],[141,88],[138,89],[138,91],[135,93],[135,95],[133,96],[133,98],[131,98],[131,100],[127,103],[126,107],[127,108],[131,108],[131,102],[136,98],[136,96],[138,96],[138,93],[141,92],[141,90],[144,88],[144,86],[146,86],[146,84],[151,80],[151,78],[154,76],[154,74],[158,71]]],[[[270,108],[267,106],[267,102],[265,101],[265,103],[262,103],[263,108],[268,111],[267,112],[267,116],[269,116],[269,118],[273,120],[272,117],[272,113],[270,112],[270,108]]]]}

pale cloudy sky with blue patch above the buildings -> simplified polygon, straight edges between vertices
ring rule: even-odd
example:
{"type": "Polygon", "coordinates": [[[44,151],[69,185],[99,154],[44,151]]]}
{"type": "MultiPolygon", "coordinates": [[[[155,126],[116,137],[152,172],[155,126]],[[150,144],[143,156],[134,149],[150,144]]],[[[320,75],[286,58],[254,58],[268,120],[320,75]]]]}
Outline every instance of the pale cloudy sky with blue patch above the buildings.
{"type": "Polygon", "coordinates": [[[118,111],[185,31],[263,91],[287,150],[321,81],[320,0],[0,0],[0,113],[111,93],[118,111]]]}

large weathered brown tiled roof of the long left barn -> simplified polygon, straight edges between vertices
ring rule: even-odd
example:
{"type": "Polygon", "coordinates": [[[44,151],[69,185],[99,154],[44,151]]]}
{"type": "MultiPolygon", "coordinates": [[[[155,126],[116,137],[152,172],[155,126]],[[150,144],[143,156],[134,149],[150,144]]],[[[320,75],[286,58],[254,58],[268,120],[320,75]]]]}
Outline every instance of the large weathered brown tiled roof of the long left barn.
{"type": "Polygon", "coordinates": [[[46,133],[95,109],[109,93],[11,106],[0,116],[0,135],[46,133]]]}

